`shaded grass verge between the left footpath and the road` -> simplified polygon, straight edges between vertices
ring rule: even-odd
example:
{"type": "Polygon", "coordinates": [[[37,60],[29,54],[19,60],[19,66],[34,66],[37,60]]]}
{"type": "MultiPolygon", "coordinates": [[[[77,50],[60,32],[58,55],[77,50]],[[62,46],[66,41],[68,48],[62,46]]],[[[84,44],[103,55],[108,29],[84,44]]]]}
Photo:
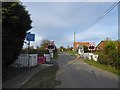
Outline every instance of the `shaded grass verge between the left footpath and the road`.
{"type": "Polygon", "coordinates": [[[55,80],[57,70],[57,65],[45,68],[35,74],[21,88],[54,88],[60,84],[60,81],[55,80]]]}

